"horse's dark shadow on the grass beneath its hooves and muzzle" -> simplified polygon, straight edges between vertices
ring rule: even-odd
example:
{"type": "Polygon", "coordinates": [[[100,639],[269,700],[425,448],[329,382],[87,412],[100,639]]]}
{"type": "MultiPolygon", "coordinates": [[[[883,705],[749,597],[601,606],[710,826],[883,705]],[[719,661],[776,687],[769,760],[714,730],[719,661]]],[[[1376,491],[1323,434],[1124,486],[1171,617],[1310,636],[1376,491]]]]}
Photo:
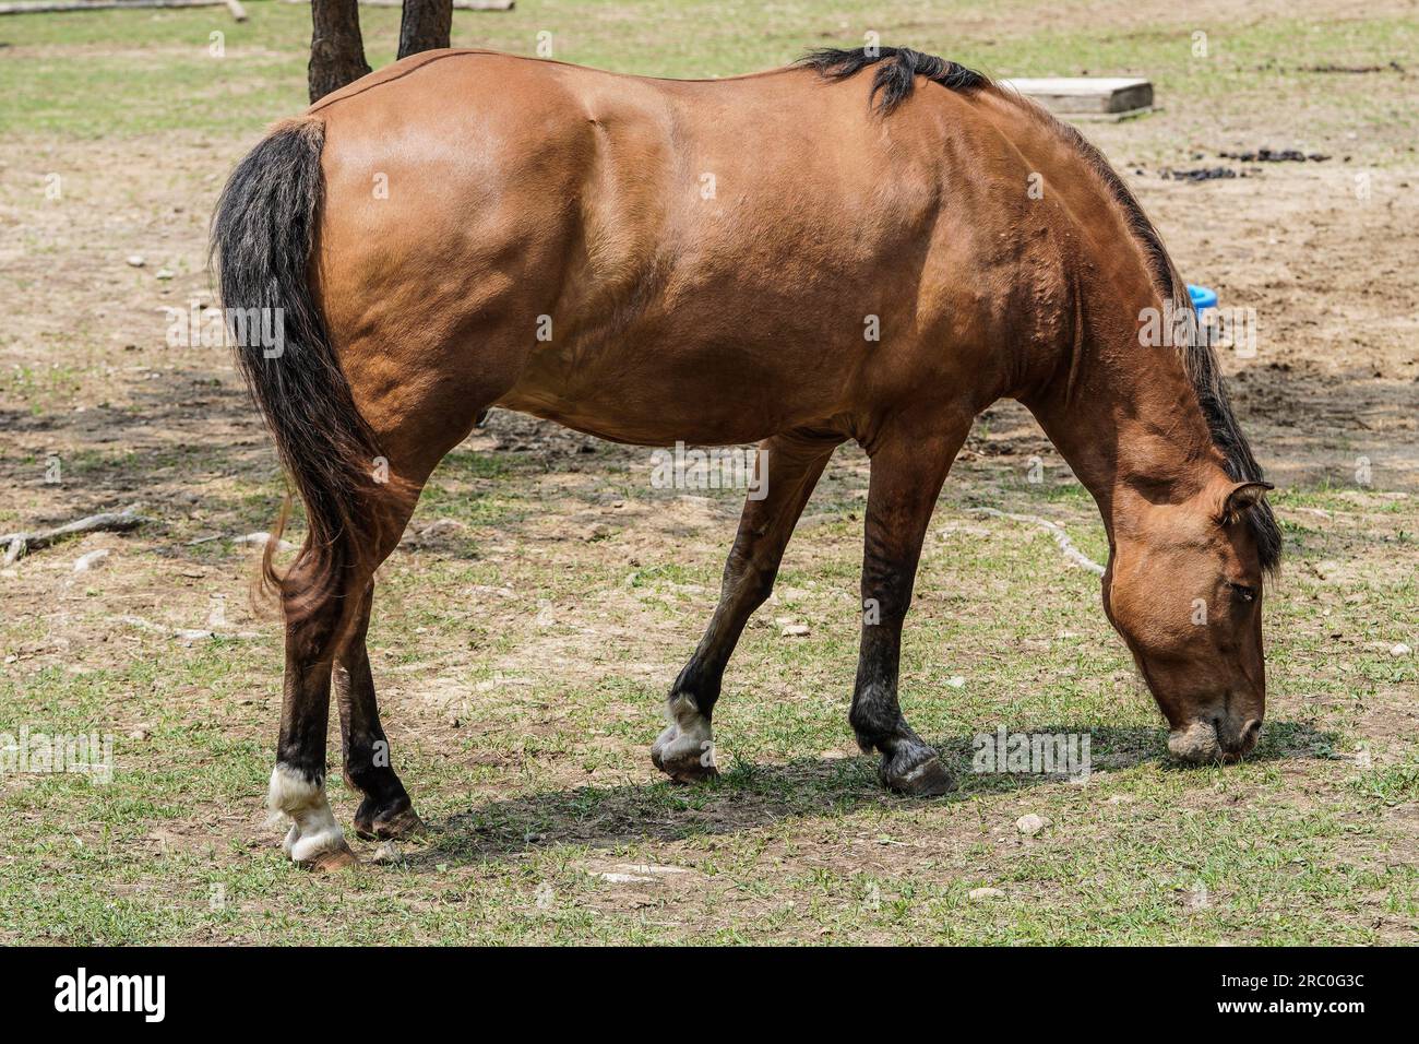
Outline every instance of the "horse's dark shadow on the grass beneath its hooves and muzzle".
{"type": "MultiPolygon", "coordinates": [[[[1205,771],[1166,756],[1166,733],[1154,727],[1037,726],[1032,734],[1088,734],[1090,770],[1118,771],[1156,761],[1164,771],[1205,771]]],[[[1308,724],[1267,727],[1249,760],[1330,758],[1337,736],[1308,724]]],[[[981,773],[973,768],[975,736],[939,743],[958,781],[952,794],[929,801],[966,801],[1033,787],[1071,785],[1063,774],[981,773]]],[[[680,787],[668,781],[573,787],[490,801],[436,824],[429,842],[407,854],[406,866],[431,871],[448,861],[484,861],[553,845],[614,848],[646,841],[736,834],[790,818],[843,815],[858,808],[924,804],[883,790],[876,757],[799,758],[782,764],[738,763],[718,780],[680,787]]]]}

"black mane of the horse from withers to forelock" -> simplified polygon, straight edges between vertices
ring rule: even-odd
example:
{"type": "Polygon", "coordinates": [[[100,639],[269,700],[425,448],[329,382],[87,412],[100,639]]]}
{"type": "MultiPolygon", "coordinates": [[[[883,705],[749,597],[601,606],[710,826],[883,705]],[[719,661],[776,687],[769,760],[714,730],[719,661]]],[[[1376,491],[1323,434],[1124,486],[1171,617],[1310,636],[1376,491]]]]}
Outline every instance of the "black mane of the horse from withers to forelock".
{"type": "MultiPolygon", "coordinates": [[[[931,54],[912,51],[910,47],[878,47],[871,53],[864,47],[851,51],[829,47],[812,51],[799,64],[833,81],[847,80],[868,65],[874,65],[877,74],[873,78],[871,97],[877,102],[877,95],[881,95],[881,101],[877,104],[884,115],[911,97],[918,75],[951,91],[973,91],[990,85],[989,77],[975,70],[931,54]]],[[[1174,315],[1178,317],[1176,321],[1182,327],[1174,342],[1182,345],[1179,351],[1183,369],[1198,395],[1198,406],[1208,422],[1213,445],[1222,453],[1227,474],[1233,482],[1264,482],[1261,466],[1252,455],[1252,446],[1247,443],[1246,435],[1242,433],[1242,426],[1232,410],[1232,401],[1227,398],[1222,371],[1218,366],[1218,357],[1208,338],[1200,335],[1198,330],[1186,284],[1178,277],[1178,270],[1174,267],[1172,259],[1168,257],[1168,250],[1164,247],[1158,230],[1148,220],[1134,193],[1124,185],[1122,178],[1084,135],[1069,124],[1054,119],[1044,109],[1037,111],[1042,119],[1056,125],[1122,209],[1130,232],[1144,250],[1158,293],[1164,301],[1172,305],[1174,315]]],[[[1247,510],[1246,516],[1247,526],[1256,540],[1261,568],[1274,572],[1281,561],[1281,531],[1276,524],[1271,506],[1260,500],[1247,510]]]]}

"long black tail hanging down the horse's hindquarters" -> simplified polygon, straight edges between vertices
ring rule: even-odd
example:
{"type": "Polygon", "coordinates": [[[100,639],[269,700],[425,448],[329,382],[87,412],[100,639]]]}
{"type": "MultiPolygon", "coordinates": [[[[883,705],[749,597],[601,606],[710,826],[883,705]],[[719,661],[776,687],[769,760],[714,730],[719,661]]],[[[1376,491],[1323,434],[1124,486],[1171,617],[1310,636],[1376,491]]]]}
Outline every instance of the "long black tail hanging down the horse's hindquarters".
{"type": "Polygon", "coordinates": [[[211,224],[237,368],[305,501],[307,537],[295,562],[284,577],[271,562],[289,497],[263,560],[264,582],[280,591],[288,619],[342,594],[346,571],[370,553],[370,494],[382,459],[311,294],[324,143],[319,119],[277,126],[231,172],[211,224]]]}

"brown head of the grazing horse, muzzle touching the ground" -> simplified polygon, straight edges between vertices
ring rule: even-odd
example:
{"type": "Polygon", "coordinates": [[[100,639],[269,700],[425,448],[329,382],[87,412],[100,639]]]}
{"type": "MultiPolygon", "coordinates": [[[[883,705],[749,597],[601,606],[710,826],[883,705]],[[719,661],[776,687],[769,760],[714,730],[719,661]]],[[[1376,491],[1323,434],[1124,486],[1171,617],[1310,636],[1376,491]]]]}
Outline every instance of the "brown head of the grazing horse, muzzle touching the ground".
{"type": "Polygon", "coordinates": [[[1185,761],[1236,761],[1266,713],[1263,555],[1250,511],[1271,489],[1225,476],[1182,503],[1141,504],[1115,530],[1104,611],[1128,642],[1185,761]]]}

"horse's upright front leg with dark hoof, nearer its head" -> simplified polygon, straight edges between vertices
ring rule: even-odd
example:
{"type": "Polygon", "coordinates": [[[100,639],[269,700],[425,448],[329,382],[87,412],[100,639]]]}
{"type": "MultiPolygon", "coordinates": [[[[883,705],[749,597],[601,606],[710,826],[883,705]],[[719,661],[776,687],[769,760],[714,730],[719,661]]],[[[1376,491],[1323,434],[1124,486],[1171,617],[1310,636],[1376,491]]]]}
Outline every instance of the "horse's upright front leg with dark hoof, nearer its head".
{"type": "Polygon", "coordinates": [[[883,783],[902,794],[944,794],[955,785],[937,751],[907,724],[897,702],[897,673],[921,543],[941,483],[969,430],[969,418],[948,433],[894,426],[868,447],[863,635],[850,722],[858,746],[881,753],[883,783]]]}

